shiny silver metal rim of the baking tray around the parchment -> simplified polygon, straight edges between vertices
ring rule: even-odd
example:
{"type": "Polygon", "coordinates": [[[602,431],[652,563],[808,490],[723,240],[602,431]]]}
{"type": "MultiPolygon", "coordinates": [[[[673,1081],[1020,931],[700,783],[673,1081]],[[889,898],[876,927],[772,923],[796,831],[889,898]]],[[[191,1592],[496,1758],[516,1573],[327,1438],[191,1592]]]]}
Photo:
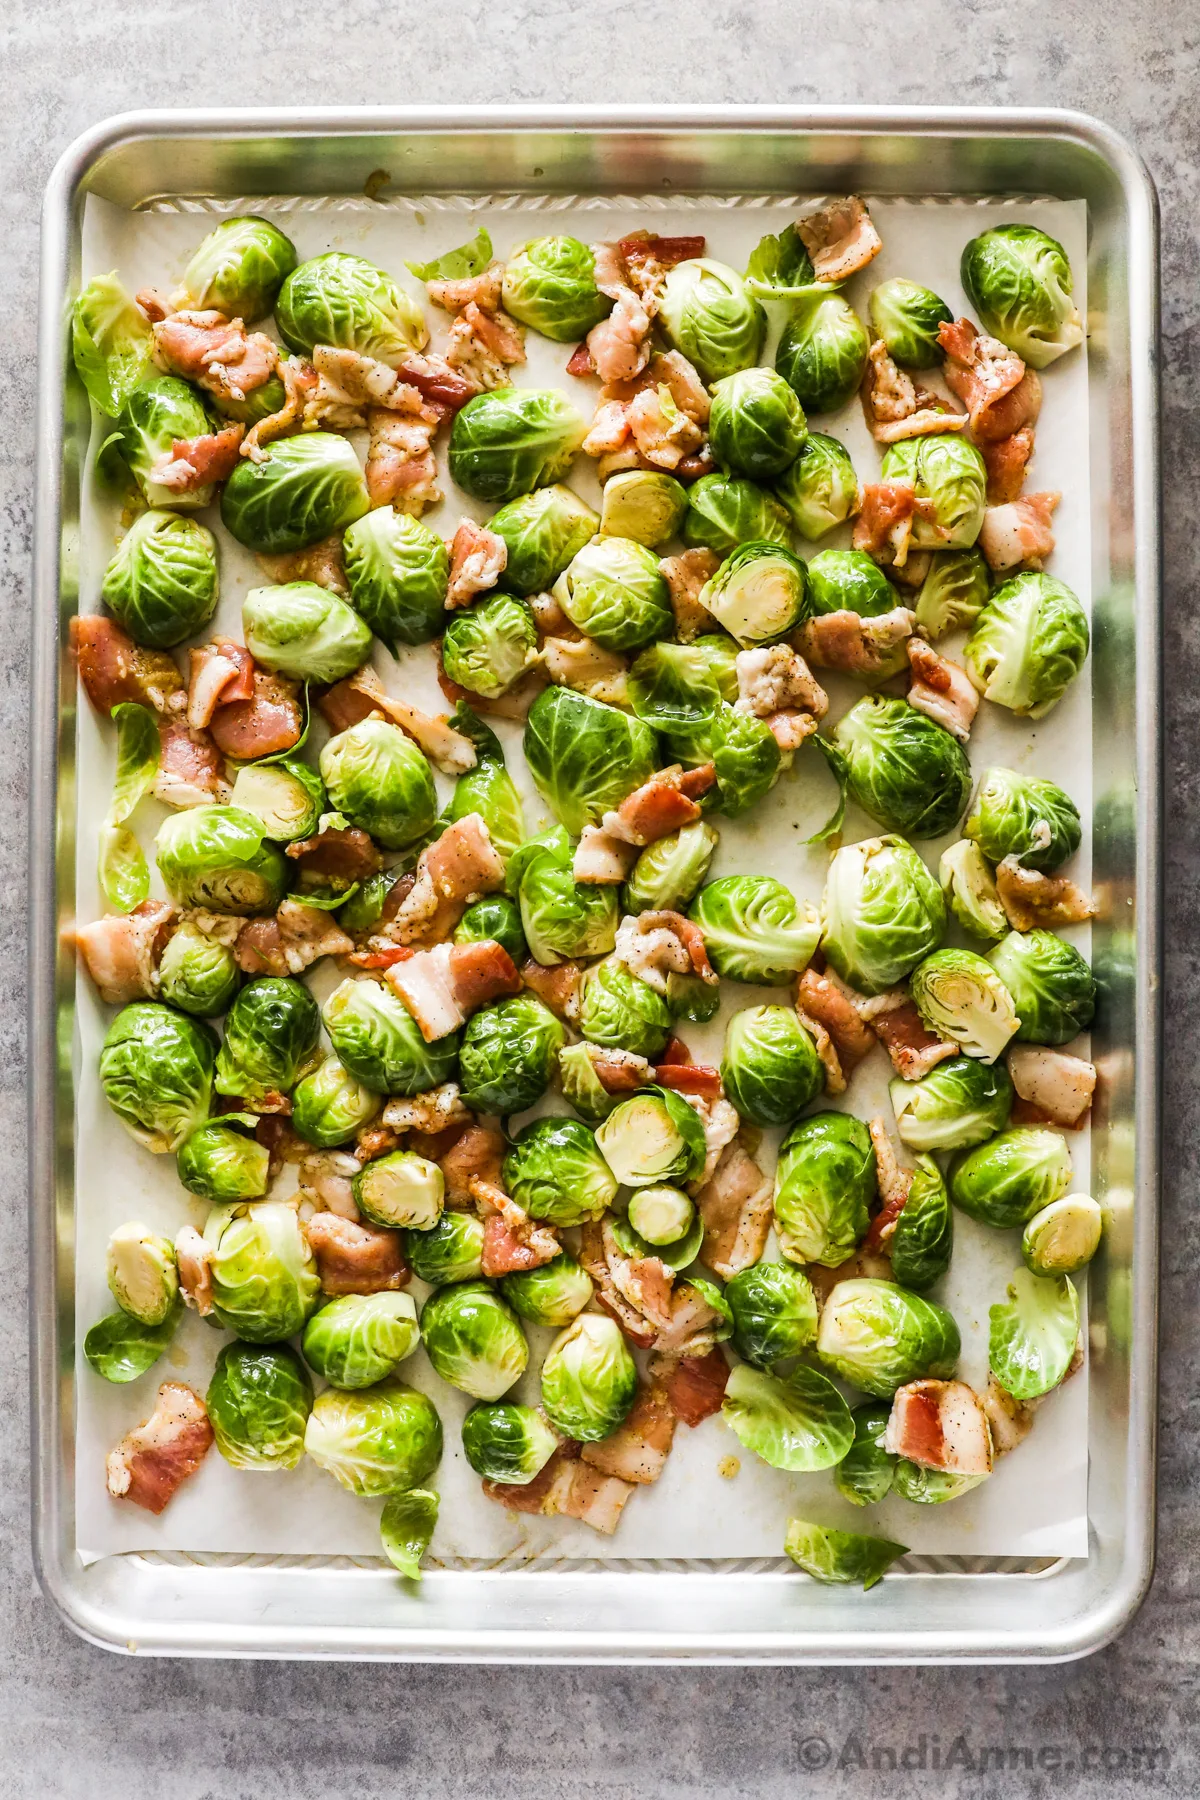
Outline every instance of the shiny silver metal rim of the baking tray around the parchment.
{"type": "MultiPolygon", "coordinates": [[[[1029,146],[1025,146],[1029,148],[1029,146]]],[[[853,151],[851,151],[853,153],[853,151]]],[[[1036,166],[1029,169],[1036,187],[1036,166]]],[[[820,164],[819,164],[820,169],[820,164]]],[[[819,169],[815,173],[819,173],[819,169]]],[[[538,175],[542,171],[536,171],[538,175]]],[[[491,189],[484,171],[475,184],[491,189]]],[[[545,184],[549,187],[549,184],[545,184]]],[[[748,184],[754,185],[754,184],[748,184]]],[[[867,185],[865,182],[862,185],[867,185]]],[[[819,191],[820,184],[813,184],[819,191]]],[[[171,191],[176,191],[175,187],[171,191]]],[[[196,191],[193,187],[193,191],[196,191]]],[[[248,180],[245,191],[263,191],[248,180]]],[[[912,191],[912,184],[910,184],[912,191]]],[[[919,191],[919,184],[918,184],[919,191]]],[[[1029,189],[1025,189],[1029,191],[1029,189]]],[[[157,198],[144,194],[144,200],[157,198]]],[[[1063,1661],[1110,1643],[1128,1625],[1153,1573],[1155,1512],[1155,1381],[1157,1381],[1157,1210],[1159,1210],[1159,1035],[1160,1035],[1160,603],[1159,603],[1159,293],[1157,196],[1130,144],[1103,122],[1056,110],[954,108],[768,108],[667,106],[653,112],[617,108],[414,108],[414,110],[221,110],[124,113],[83,133],[50,176],[43,209],[40,302],[40,432],[32,580],[32,733],[31,733],[31,931],[29,931],[29,1172],[31,1172],[31,1431],[32,1539],[43,1591],[83,1638],[113,1651],[191,1656],[304,1656],[362,1660],[453,1661],[579,1661],[579,1663],[905,1663],[905,1661],[1063,1661]],[[772,1573],[648,1573],[648,1571],[506,1571],[434,1573],[430,1600],[444,1584],[470,1584],[475,1615],[462,1629],[389,1622],[376,1629],[354,1618],[354,1589],[374,1573],[362,1568],[214,1570],[110,1557],[92,1570],[74,1553],[70,1525],[72,1465],[72,1323],[70,1323],[70,1193],[74,1184],[68,1071],[63,1094],[59,1030],[70,1015],[70,958],[61,950],[58,866],[61,832],[59,742],[74,716],[74,680],[65,680],[67,650],[59,617],[70,596],[70,508],[65,499],[67,428],[67,299],[83,193],[97,167],[137,142],[218,139],[387,139],[396,135],[468,133],[545,135],[567,131],[601,137],[680,139],[784,133],[806,142],[871,139],[966,139],[1006,146],[1006,178],[991,193],[1013,193],[1022,139],[1070,146],[1103,166],[1124,207],[1128,306],[1128,389],[1132,452],[1130,581],[1135,594],[1135,720],[1133,781],[1137,844],[1132,884],[1137,895],[1135,1073],[1132,1123],[1135,1136],[1135,1208],[1130,1251],[1130,1318],[1135,1332],[1128,1355],[1128,1429],[1123,1436],[1124,1532],[1115,1568],[1087,1561],[1056,1564],[1034,1575],[900,1573],[876,1589],[882,1607],[864,1611],[862,1597],[813,1591],[772,1573]],[[1016,153],[1016,155],[1015,155],[1016,153]],[[119,1566],[119,1571],[113,1568],[119,1566]],[[1090,1577],[1090,1579],[1088,1579],[1090,1577]],[[286,1584],[329,1582],[336,1598],[327,1616],[304,1625],[288,1618],[286,1584]],[[237,1586],[241,1582],[241,1586],[237,1586]],[[250,1582],[250,1589],[246,1589],[250,1582]],[[601,1595],[596,1584],[603,1584],[601,1595]],[[576,1616],[612,1615],[612,1584],[626,1584],[624,1600],[649,1602],[671,1629],[615,1629],[599,1622],[583,1629],[552,1625],[542,1597],[574,1606],[576,1616]],[[196,1588],[200,1584],[200,1588],[196,1588]],[[651,1586],[646,1586],[651,1584],[651,1586]],[[685,1586],[682,1586],[685,1584],[685,1586]],[[734,1588],[730,1588],[734,1584],[734,1588]],[[702,1622],[702,1602],[723,1613],[741,1584],[756,1615],[779,1600],[775,1622],[763,1629],[702,1622]],[[748,1584],[748,1586],[747,1586],[748,1584]],[[273,1589],[279,1589],[275,1593],[273,1589]],[[914,1602],[907,1595],[912,1591],[914,1602]],[[1013,1615],[997,1609],[986,1622],[964,1625],[972,1611],[988,1611],[1004,1591],[1013,1615]],[[1061,1602],[1051,1622],[1038,1618],[1038,1595],[1061,1602]],[[210,1604],[200,1606],[203,1593],[210,1604]],[[516,1606],[513,1600],[520,1595],[516,1606]],[[783,1598],[786,1597],[786,1598],[783,1598]],[[988,1597],[988,1606],[984,1606],[988,1597]],[[797,1629],[797,1598],[806,1624],[797,1629]],[[844,1598],[856,1602],[846,1606],[844,1598]],[[228,1602],[223,1613],[221,1604],[228,1602]],[[236,1602],[236,1604],[234,1604],[236,1602]],[[599,1602],[599,1606],[597,1606],[599,1602]],[[761,1602],[761,1606],[759,1606],[761,1602]],[[840,1607],[840,1609],[838,1609],[840,1607]],[[786,1609],[786,1613],[784,1613],[786,1609]],[[209,1613],[210,1616],[205,1616],[209,1613]],[[506,1618],[506,1613],[525,1616],[506,1618]],[[239,1616],[236,1616],[239,1615],[239,1616]],[[883,1616],[887,1615],[887,1616],[883,1616]]],[[[70,769],[67,769],[70,776],[70,769]]],[[[68,884],[65,886],[68,891],[68,884]]],[[[1099,1408],[1096,1409],[1099,1411],[1099,1408]]],[[[459,1589],[462,1591],[462,1589],[459,1589]]],[[[313,1588],[306,1589],[313,1595],[313,1588]]],[[[873,1597],[874,1598],[874,1597],[873,1597]]],[[[734,1607],[739,1611],[739,1607],[734,1607]]],[[[642,1616],[646,1611],[642,1609],[642,1616]]],[[[756,1616],[754,1624],[759,1624],[756,1616]]]]}

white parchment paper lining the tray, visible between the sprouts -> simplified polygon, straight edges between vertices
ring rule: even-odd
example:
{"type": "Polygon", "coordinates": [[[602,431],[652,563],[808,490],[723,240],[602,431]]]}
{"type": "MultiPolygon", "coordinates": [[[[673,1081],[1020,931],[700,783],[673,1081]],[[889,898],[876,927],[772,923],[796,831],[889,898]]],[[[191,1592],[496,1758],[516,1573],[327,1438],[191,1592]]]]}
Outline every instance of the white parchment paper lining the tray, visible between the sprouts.
{"type": "MultiPolygon", "coordinates": [[[[660,198],[649,202],[588,198],[545,200],[534,196],[398,200],[385,205],[365,200],[340,202],[254,202],[252,209],[275,218],[293,238],[302,257],[329,248],[356,250],[387,266],[419,293],[421,288],[403,270],[405,259],[425,261],[473,236],[486,221],[498,256],[516,243],[545,230],[574,232],[585,239],[613,238],[649,225],[657,230],[705,232],[711,254],[743,268],[752,247],[766,230],[779,230],[795,216],[792,200],[739,202],[730,198],[673,198],[664,209],[660,198]],[[529,214],[536,216],[531,218],[529,214]],[[545,214],[551,212],[552,220],[545,214]],[[515,216],[507,216],[515,214],[515,216]]],[[[963,202],[871,202],[883,238],[883,252],[849,286],[860,313],[878,281],[910,275],[936,288],[959,311],[970,311],[961,292],[957,265],[964,241],[986,223],[1031,220],[1056,236],[1076,272],[1079,308],[1087,254],[1087,209],[1083,202],[1022,200],[1006,203],[963,202]]],[[[103,200],[88,198],[83,232],[83,274],[119,268],[130,286],[171,288],[207,229],[212,212],[250,211],[250,203],[221,202],[182,205],[173,211],[128,214],[103,200]]],[[[444,331],[434,308],[426,310],[437,344],[444,331]]],[[[779,320],[772,320],[777,331],[779,320]]],[[[522,385],[560,385],[578,389],[585,416],[590,416],[594,389],[563,374],[570,346],[554,346],[529,333],[529,362],[516,371],[522,385]]],[[[770,360],[768,340],[763,360],[770,360]]],[[[1045,403],[1038,423],[1038,448],[1031,486],[1060,488],[1063,504],[1056,515],[1058,545],[1052,572],[1060,574],[1090,607],[1090,531],[1087,508],[1088,394],[1085,353],[1074,353],[1043,373],[1045,403]]],[[[831,430],[849,446],[860,479],[871,481],[880,450],[873,443],[856,401],[835,419],[817,419],[817,428],[831,430]]],[[[444,437],[439,443],[444,455],[444,437]]],[[[599,488],[594,466],[579,459],[572,486],[594,504],[599,488]]],[[[428,522],[450,535],[462,513],[486,517],[488,508],[452,491],[448,502],[426,515],[428,522]]],[[[209,524],[214,518],[200,515],[209,524]]],[[[81,610],[97,610],[103,569],[119,538],[110,500],[85,482],[81,522],[81,610]]],[[[831,533],[819,545],[804,545],[806,554],[837,547],[849,531],[831,533]]],[[[241,637],[239,608],[248,587],[261,583],[255,560],[221,533],[221,607],[212,630],[241,637]]],[[[952,641],[952,652],[955,643],[952,641]]],[[[444,702],[434,680],[432,653],[408,652],[399,664],[376,646],[376,662],[385,682],[417,704],[441,709],[444,702]]],[[[831,684],[831,716],[846,711],[862,689],[851,682],[831,684]]],[[[112,781],[112,729],[95,713],[79,707],[79,830],[77,830],[77,916],[94,918],[103,911],[95,884],[97,826],[104,815],[112,781]]],[[[507,727],[509,765],[524,785],[525,821],[531,832],[552,823],[542,801],[524,779],[520,731],[507,727]]],[[[324,740],[317,725],[315,745],[324,740]]],[[[1085,842],[1078,878],[1090,873],[1090,662],[1067,698],[1047,720],[1034,725],[1011,720],[999,707],[981,709],[972,736],[972,767],[979,772],[993,763],[1052,776],[1061,781],[1085,819],[1085,842]]],[[[448,783],[439,788],[448,792],[448,783]]],[[[804,846],[804,837],[826,817],[833,785],[815,754],[797,760],[793,776],[756,810],[750,821],[721,821],[721,842],[712,875],[765,871],[777,875],[799,896],[820,898],[826,855],[804,846]]],[[[153,801],[137,815],[137,830],[148,850],[166,815],[153,801]]],[[[846,842],[876,833],[876,826],[851,808],[846,842]]],[[[919,846],[936,866],[943,842],[919,846]]],[[[155,889],[158,891],[158,889],[155,889]]],[[[1087,954],[1087,929],[1072,932],[1087,954]]],[[[333,985],[333,970],[320,970],[318,995],[333,985]]],[[[730,986],[723,995],[718,1021],[689,1028],[687,1037],[698,1057],[720,1048],[725,1019],[741,1006],[783,999],[784,992],[730,986]]],[[[344,1492],[317,1465],[304,1460],[299,1469],[261,1476],[230,1469],[212,1453],[200,1474],[189,1481],[158,1519],[140,1508],[112,1501],[104,1490],[104,1453],[153,1404],[162,1379],[175,1375],[205,1390],[225,1334],[187,1316],[173,1348],[140,1381],[110,1386],[99,1381],[83,1359],[83,1336],[112,1310],[104,1283],[104,1246],[112,1229],[128,1219],[142,1219],[157,1231],[173,1235],[182,1224],[203,1224],[205,1208],[178,1184],[171,1157],[151,1157],[133,1143],[106,1107],[95,1080],[99,1046],[112,1013],[101,1006],[86,979],[77,983],[76,1008],[76,1084],[77,1107],[77,1208],[76,1208],[76,1343],[77,1343],[77,1440],[76,1440],[76,1519],[77,1548],[85,1561],[130,1550],[378,1555],[378,1503],[344,1492]]],[[[882,1053],[855,1078],[849,1111],[869,1116],[883,1112],[891,1120],[887,1076],[882,1053]]],[[[837,1102],[835,1102],[837,1103],[837,1102]]],[[[775,1134],[777,1138],[777,1134],[775,1134]]],[[[765,1159],[774,1157],[775,1138],[768,1136],[765,1159]]],[[[1088,1186],[1087,1132],[1072,1134],[1076,1165],[1074,1186],[1088,1186]]],[[[293,1179],[286,1172],[282,1181],[293,1179]]],[[[768,1249],[768,1255],[772,1251],[768,1249]]],[[[1016,1233],[993,1233],[955,1215],[954,1265],[934,1289],[955,1314],[963,1332],[961,1373],[981,1384],[988,1366],[988,1307],[1000,1300],[1011,1271],[1018,1264],[1016,1233]]],[[[1085,1287],[1085,1282],[1079,1283],[1085,1287]]],[[[417,1300],[421,1283],[414,1283],[417,1300]]],[[[516,1390],[520,1399],[536,1399],[536,1370],[551,1332],[529,1328],[531,1370],[516,1390]]],[[[441,1519],[432,1546],[435,1561],[529,1564],[561,1557],[606,1557],[608,1561],[682,1559],[729,1561],[779,1557],[784,1523],[801,1514],[828,1525],[849,1525],[898,1537],[912,1550],[945,1555],[1087,1555],[1087,1379],[1070,1381],[1051,1395],[1036,1427],[1020,1451],[1004,1458],[981,1489],[950,1507],[912,1507],[898,1499],[864,1514],[849,1507],[835,1490],[829,1474],[793,1476],[768,1469],[741,1449],[720,1418],[694,1431],[680,1427],[664,1476],[653,1489],[635,1494],[626,1507],[613,1539],[601,1539],[569,1519],[527,1519],[484,1501],[479,1480],[462,1458],[459,1422],[471,1404],[466,1395],[439,1382],[423,1352],[401,1366],[401,1375],[426,1388],[443,1415],[446,1454],[435,1485],[443,1496],[441,1519]],[[734,1478],[718,1474],[718,1463],[734,1456],[734,1478]]]]}

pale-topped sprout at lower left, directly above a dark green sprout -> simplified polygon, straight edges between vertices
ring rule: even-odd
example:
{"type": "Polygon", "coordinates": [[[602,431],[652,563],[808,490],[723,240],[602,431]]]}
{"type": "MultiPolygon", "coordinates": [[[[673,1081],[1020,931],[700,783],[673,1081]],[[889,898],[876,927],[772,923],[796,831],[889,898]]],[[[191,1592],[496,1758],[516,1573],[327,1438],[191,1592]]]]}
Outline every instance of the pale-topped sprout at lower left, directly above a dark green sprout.
{"type": "Polygon", "coordinates": [[[214,1206],[203,1237],[218,1325],[255,1345],[293,1337],[320,1296],[317,1262],[295,1206],[214,1206]]]}

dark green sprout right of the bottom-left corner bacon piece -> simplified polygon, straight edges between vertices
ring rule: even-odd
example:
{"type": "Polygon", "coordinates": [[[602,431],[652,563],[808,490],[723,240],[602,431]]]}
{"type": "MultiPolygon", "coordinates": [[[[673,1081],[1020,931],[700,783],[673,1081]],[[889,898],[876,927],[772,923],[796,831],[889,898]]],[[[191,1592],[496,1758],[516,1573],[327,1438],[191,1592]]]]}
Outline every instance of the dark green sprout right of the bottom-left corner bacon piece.
{"type": "Polygon", "coordinates": [[[205,1395],[216,1447],[234,1469],[295,1469],[313,1384],[288,1345],[225,1345],[205,1395]]]}

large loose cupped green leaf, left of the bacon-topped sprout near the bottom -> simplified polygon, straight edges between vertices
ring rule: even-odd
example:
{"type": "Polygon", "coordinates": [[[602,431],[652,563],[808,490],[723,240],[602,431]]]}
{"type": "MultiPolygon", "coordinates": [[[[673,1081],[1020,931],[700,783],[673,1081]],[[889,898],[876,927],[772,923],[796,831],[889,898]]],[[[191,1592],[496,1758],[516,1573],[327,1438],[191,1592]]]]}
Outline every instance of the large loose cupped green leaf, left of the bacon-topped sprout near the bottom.
{"type": "Polygon", "coordinates": [[[804,1363],[786,1377],[739,1363],[725,1388],[721,1418],[748,1451],[792,1474],[833,1469],[855,1440],[849,1406],[828,1375],[804,1363]]]}

